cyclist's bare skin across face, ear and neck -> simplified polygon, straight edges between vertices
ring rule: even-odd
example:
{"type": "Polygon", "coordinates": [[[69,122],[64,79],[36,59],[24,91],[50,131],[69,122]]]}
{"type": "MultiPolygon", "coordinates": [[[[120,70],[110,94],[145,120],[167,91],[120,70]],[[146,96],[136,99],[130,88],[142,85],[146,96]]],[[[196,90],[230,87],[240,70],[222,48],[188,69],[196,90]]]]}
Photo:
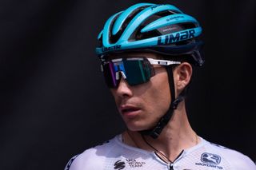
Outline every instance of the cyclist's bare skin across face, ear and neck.
{"type": "MultiPolygon", "coordinates": [[[[112,57],[122,57],[118,54],[112,57]]],[[[126,53],[126,57],[145,56],[157,58],[155,53],[126,53]]],[[[124,143],[137,148],[153,152],[138,131],[153,128],[158,120],[166,113],[170,106],[170,87],[166,69],[161,65],[154,65],[155,75],[149,82],[141,85],[130,86],[123,78],[116,89],[110,89],[114,96],[127,131],[122,133],[124,143]]],[[[192,67],[187,62],[174,67],[175,93],[181,93],[182,89],[190,82],[192,67]]],[[[190,127],[186,116],[185,101],[182,101],[174,110],[168,125],[163,129],[157,139],[145,136],[154,148],[166,156],[162,156],[166,162],[172,162],[183,149],[198,144],[198,136],[190,127]]]]}

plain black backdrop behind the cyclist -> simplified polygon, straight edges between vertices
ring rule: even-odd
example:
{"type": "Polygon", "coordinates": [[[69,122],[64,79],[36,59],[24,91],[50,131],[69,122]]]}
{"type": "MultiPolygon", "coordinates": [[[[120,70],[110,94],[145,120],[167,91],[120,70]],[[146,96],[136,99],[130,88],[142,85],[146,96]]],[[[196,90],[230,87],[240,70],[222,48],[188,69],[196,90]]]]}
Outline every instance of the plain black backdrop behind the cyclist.
{"type": "MultiPolygon", "coordinates": [[[[94,53],[111,14],[144,1],[0,1],[0,169],[63,169],[125,128],[94,53]]],[[[201,23],[205,65],[187,98],[206,140],[256,160],[256,2],[171,3],[201,23]]]]}

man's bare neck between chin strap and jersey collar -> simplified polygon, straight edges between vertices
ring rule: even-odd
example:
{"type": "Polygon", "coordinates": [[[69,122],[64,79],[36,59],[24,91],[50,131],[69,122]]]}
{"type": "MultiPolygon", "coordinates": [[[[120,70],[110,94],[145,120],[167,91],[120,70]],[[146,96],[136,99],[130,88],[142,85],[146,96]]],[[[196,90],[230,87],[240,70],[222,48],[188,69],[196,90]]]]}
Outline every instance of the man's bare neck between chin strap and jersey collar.
{"type": "Polygon", "coordinates": [[[191,148],[199,142],[198,136],[190,126],[185,107],[182,105],[185,104],[180,103],[157,139],[127,130],[123,133],[124,142],[150,152],[161,152],[167,160],[173,162],[182,150],[191,148]]]}

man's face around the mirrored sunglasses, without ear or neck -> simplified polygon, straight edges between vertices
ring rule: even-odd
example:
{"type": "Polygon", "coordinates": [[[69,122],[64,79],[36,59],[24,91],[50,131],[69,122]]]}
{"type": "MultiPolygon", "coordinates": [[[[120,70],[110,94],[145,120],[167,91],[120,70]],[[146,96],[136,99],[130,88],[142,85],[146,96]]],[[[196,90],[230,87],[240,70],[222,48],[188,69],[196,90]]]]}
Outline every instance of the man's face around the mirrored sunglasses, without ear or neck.
{"type": "MultiPolygon", "coordinates": [[[[156,58],[154,53],[128,53],[114,57],[149,57],[156,58]]],[[[118,87],[110,89],[114,96],[118,112],[127,128],[141,131],[153,128],[170,106],[170,87],[166,69],[154,65],[155,75],[150,81],[130,86],[122,78],[118,87]]]]}

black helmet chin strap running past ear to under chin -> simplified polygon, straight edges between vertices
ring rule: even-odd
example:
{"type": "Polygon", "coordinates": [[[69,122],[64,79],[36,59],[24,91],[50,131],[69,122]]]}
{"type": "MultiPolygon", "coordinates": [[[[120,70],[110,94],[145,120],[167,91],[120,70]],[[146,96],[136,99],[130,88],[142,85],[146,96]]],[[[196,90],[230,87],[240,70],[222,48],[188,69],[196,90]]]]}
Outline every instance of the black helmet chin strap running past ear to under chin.
{"type": "MultiPolygon", "coordinates": [[[[171,66],[166,66],[166,71],[168,74],[168,79],[169,79],[169,86],[170,86],[170,97],[171,100],[173,100],[175,98],[175,88],[174,88],[174,75],[173,75],[173,70],[171,66]]],[[[173,113],[174,113],[174,109],[177,109],[178,104],[184,100],[185,98],[185,89],[182,91],[182,93],[180,93],[178,95],[178,97],[174,100],[170,102],[170,108],[168,109],[168,111],[166,112],[166,114],[160,119],[160,121],[158,121],[158,125],[156,125],[154,128],[152,129],[148,129],[148,130],[143,130],[140,131],[142,135],[148,135],[151,136],[152,138],[156,139],[158,138],[158,136],[160,135],[160,133],[162,132],[162,129],[168,124],[168,122],[170,121],[170,118],[172,117],[173,113]]]]}

